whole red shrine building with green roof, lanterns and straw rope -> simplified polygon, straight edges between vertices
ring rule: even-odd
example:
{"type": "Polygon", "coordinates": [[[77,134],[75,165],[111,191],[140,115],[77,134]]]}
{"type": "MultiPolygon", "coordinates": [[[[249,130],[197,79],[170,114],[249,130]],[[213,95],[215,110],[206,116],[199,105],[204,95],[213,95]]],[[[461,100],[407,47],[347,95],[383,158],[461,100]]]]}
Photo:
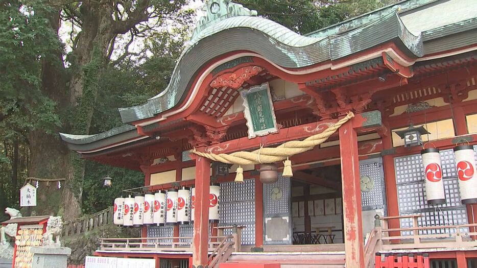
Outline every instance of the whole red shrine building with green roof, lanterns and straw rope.
{"type": "Polygon", "coordinates": [[[203,10],[169,85],[119,108],[123,126],[60,134],[145,175],[114,204],[142,237],[96,256],[477,267],[477,1],[405,0],[306,35],[230,0],[203,10]]]}

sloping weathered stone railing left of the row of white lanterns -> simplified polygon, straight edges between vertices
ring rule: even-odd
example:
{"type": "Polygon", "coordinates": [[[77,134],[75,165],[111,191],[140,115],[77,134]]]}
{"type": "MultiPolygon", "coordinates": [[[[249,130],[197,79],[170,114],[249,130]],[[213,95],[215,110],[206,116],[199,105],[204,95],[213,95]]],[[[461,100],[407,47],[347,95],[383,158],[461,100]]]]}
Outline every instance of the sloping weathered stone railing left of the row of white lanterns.
{"type": "Polygon", "coordinates": [[[113,220],[113,208],[109,207],[105,210],[90,215],[84,215],[75,220],[66,221],[63,224],[63,237],[76,235],[91,231],[103,225],[111,223],[113,220]]]}

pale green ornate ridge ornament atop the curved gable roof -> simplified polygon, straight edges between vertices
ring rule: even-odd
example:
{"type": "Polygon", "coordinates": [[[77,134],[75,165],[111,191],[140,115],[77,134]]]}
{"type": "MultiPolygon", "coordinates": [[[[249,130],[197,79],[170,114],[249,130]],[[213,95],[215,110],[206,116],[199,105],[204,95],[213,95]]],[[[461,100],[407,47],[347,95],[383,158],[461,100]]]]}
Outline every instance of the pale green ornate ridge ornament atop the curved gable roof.
{"type": "Polygon", "coordinates": [[[256,16],[258,13],[255,10],[245,8],[240,4],[232,3],[231,0],[206,0],[202,11],[205,16],[199,18],[197,26],[192,34],[192,39],[196,37],[202,30],[226,18],[236,16],[256,16]]]}

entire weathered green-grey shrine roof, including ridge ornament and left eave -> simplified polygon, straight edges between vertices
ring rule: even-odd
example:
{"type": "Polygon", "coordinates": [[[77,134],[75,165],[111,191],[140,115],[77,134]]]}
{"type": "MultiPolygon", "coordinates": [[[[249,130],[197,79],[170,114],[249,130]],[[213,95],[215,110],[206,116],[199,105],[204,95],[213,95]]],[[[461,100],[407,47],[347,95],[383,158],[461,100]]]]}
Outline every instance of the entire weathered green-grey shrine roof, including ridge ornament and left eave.
{"type": "MultiPolygon", "coordinates": [[[[215,2],[215,1],[214,1],[215,2]]],[[[234,51],[259,54],[285,68],[338,60],[373,46],[394,42],[411,58],[475,43],[477,0],[407,0],[307,35],[256,17],[256,12],[220,0],[219,12],[207,0],[202,17],[174,68],[169,85],[147,103],[119,108],[124,123],[151,118],[174,108],[190,90],[197,71],[234,51]]],[[[97,135],[60,134],[72,150],[140,137],[132,126],[97,135]]]]}

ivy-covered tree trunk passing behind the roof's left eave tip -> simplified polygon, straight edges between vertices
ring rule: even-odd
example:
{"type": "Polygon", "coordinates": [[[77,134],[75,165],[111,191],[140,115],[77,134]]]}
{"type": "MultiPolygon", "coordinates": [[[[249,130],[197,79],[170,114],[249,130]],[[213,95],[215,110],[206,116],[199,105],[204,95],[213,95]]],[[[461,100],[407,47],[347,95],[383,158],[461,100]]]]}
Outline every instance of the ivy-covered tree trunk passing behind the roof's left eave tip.
{"type": "MultiPolygon", "coordinates": [[[[107,11],[107,10],[106,10],[107,11]]],[[[110,12],[96,11],[83,25],[82,34],[75,51],[80,71],[73,76],[70,86],[70,105],[74,109],[71,133],[89,134],[94,108],[96,107],[100,75],[107,66],[107,50],[111,33],[110,12]]],[[[65,220],[81,215],[85,160],[76,153],[68,157],[68,171],[61,205],[65,220]]]]}

